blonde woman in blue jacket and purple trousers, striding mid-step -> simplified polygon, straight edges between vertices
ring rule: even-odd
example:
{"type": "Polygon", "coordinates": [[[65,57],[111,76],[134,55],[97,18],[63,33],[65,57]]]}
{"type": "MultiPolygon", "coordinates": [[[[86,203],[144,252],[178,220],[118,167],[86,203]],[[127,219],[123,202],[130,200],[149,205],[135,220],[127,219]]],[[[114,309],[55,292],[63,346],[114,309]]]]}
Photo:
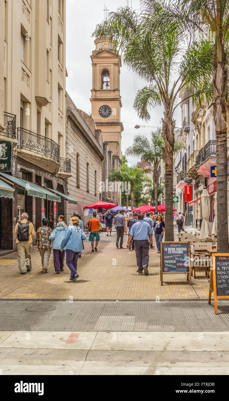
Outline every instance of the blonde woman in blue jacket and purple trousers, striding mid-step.
{"type": "Polygon", "coordinates": [[[61,251],[65,248],[67,267],[71,271],[70,280],[75,281],[79,274],[77,274],[77,263],[79,252],[83,251],[83,243],[86,235],[79,227],[79,218],[76,216],[71,217],[72,225],[65,231],[65,236],[61,242],[61,251]]]}

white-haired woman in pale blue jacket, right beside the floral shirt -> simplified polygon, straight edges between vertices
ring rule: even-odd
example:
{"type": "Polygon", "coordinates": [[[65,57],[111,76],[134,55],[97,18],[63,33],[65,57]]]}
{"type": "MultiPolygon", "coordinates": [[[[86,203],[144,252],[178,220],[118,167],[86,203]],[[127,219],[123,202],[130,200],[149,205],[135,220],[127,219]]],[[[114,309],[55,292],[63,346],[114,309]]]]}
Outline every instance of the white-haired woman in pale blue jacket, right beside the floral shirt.
{"type": "Polygon", "coordinates": [[[53,230],[51,235],[49,235],[49,239],[53,240],[53,263],[57,274],[60,274],[60,271],[64,271],[65,251],[61,251],[61,242],[64,239],[66,230],[65,223],[60,221],[57,223],[57,227],[53,230]]]}

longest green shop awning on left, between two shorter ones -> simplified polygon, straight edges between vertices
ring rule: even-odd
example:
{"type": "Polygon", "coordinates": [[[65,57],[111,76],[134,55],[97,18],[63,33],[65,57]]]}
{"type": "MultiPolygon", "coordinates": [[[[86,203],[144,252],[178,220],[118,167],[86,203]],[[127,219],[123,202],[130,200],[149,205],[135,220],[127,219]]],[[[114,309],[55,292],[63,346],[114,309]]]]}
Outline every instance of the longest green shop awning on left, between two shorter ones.
{"type": "Polygon", "coordinates": [[[28,195],[35,196],[37,198],[45,198],[52,201],[61,202],[61,198],[46,188],[42,188],[41,186],[34,184],[33,182],[29,182],[26,180],[22,180],[22,178],[13,177],[3,172],[0,172],[0,175],[8,181],[13,182],[16,185],[21,186],[24,188],[28,195]]]}

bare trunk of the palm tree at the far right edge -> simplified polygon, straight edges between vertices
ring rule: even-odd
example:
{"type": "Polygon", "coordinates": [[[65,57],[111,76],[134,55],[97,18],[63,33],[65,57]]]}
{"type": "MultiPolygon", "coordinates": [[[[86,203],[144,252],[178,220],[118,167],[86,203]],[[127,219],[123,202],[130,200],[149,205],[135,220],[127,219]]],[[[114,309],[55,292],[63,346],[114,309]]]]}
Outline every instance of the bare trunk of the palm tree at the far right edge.
{"type": "Polygon", "coordinates": [[[215,45],[214,54],[214,97],[213,117],[216,131],[217,164],[217,252],[228,253],[227,231],[227,79],[226,54],[219,34],[220,51],[215,45]],[[223,219],[221,218],[223,216],[223,219]]]}

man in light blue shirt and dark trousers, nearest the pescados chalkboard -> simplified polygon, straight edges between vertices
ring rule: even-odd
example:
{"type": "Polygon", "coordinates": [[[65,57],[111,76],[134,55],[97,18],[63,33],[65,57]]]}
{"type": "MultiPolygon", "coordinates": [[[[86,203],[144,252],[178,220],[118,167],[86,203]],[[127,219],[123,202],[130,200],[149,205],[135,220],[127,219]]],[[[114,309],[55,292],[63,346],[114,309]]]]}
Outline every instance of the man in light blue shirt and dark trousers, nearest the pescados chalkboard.
{"type": "Polygon", "coordinates": [[[134,238],[135,253],[138,265],[138,273],[142,273],[144,270],[145,275],[148,275],[148,264],[149,264],[149,249],[152,244],[152,233],[153,230],[150,225],[143,220],[144,215],[140,213],[138,215],[138,221],[132,225],[129,233],[129,238],[126,247],[129,249],[130,241],[134,238]],[[150,236],[150,242],[149,242],[150,236]]]}

